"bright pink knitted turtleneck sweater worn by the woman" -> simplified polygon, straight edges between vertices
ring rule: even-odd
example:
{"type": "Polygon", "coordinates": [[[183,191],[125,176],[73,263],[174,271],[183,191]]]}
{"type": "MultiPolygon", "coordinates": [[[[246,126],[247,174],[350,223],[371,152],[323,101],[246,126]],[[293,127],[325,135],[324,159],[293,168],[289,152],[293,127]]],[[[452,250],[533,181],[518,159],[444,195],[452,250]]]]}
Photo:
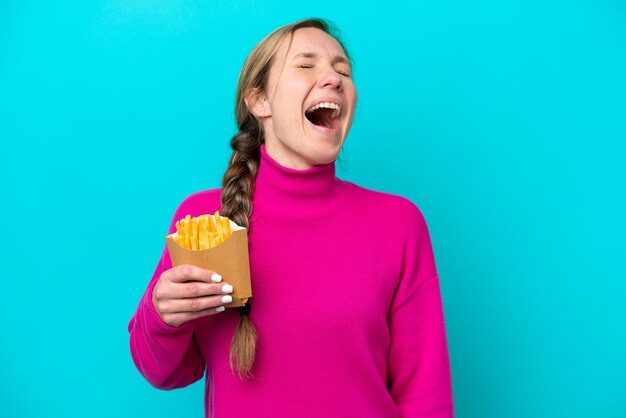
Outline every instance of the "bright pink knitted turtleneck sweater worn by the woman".
{"type": "MultiPolygon", "coordinates": [[[[250,219],[255,377],[231,374],[237,310],[175,328],[152,304],[167,249],[128,326],[154,386],[206,372],[207,417],[453,416],[439,281],[428,229],[410,201],[342,181],[335,165],[297,171],[261,149],[250,219]]],[[[220,190],[189,196],[170,225],[220,209],[220,190]]],[[[219,273],[219,272],[218,272],[219,273]]]]}

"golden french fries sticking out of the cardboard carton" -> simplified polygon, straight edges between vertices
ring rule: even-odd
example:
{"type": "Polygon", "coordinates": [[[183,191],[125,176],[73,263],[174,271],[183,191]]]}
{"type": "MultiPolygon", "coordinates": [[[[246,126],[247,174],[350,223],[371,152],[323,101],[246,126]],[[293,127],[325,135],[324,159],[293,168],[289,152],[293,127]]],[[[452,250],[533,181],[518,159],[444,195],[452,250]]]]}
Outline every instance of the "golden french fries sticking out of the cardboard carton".
{"type": "Polygon", "coordinates": [[[176,221],[177,234],[172,235],[174,241],[188,250],[200,251],[213,248],[226,241],[232,234],[230,220],[220,216],[216,211],[214,215],[201,215],[192,217],[185,216],[176,221]]]}

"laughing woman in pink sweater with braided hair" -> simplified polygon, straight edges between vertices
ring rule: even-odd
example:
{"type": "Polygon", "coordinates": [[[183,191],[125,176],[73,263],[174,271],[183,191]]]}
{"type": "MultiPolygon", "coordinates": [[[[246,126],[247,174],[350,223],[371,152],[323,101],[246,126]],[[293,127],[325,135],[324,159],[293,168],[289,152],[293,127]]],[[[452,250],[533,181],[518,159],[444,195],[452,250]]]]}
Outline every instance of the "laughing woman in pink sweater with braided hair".
{"type": "Polygon", "coordinates": [[[232,286],[219,272],[172,268],[166,249],[129,324],[154,386],[206,372],[207,417],[453,416],[424,218],[402,197],[335,177],[357,101],[351,73],[324,21],[261,41],[240,75],[223,188],[174,215],[170,232],[215,210],[249,228],[252,309],[224,309],[232,286]]]}

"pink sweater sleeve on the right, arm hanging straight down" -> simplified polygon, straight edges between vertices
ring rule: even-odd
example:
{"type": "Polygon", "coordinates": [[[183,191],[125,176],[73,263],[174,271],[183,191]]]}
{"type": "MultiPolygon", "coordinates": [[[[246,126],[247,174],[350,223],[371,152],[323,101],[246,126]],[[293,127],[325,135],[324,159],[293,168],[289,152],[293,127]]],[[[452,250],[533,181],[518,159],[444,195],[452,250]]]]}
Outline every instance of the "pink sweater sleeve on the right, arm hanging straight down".
{"type": "Polygon", "coordinates": [[[389,313],[389,392],[401,417],[454,416],[439,280],[426,222],[409,217],[402,277],[389,313]]]}

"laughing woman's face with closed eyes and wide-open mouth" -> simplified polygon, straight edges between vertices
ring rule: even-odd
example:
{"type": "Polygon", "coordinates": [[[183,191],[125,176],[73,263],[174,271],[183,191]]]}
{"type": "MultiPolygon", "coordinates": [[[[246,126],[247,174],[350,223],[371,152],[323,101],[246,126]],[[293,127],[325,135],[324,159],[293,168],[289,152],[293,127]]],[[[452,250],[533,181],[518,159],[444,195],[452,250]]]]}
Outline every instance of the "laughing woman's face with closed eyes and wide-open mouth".
{"type": "Polygon", "coordinates": [[[339,42],[319,29],[296,30],[291,47],[283,41],[253,110],[274,160],[303,170],[337,159],[356,107],[351,73],[339,42]]]}

